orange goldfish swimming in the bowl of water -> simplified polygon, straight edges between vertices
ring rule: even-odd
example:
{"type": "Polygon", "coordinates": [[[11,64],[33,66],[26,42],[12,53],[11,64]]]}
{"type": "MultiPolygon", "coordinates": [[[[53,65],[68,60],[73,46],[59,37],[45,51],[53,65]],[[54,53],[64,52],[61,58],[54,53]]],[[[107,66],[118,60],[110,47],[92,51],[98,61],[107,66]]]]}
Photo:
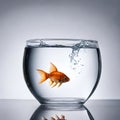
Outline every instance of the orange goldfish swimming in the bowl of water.
{"type": "Polygon", "coordinates": [[[37,71],[41,75],[41,80],[39,83],[43,83],[48,78],[50,79],[50,85],[55,87],[57,84],[58,87],[62,85],[62,83],[68,82],[70,79],[62,72],[59,72],[54,64],[51,63],[50,73],[46,73],[43,70],[37,69],[37,71]]]}

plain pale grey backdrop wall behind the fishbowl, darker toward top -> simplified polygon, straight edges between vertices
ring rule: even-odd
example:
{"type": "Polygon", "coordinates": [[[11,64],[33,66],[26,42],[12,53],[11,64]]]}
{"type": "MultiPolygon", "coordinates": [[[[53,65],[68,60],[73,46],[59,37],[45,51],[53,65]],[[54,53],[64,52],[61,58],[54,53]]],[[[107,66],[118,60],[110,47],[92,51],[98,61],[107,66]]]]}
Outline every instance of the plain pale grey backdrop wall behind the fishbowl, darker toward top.
{"type": "Polygon", "coordinates": [[[98,40],[102,76],[93,99],[120,99],[119,0],[0,1],[0,99],[33,99],[23,78],[25,41],[98,40]]]}

